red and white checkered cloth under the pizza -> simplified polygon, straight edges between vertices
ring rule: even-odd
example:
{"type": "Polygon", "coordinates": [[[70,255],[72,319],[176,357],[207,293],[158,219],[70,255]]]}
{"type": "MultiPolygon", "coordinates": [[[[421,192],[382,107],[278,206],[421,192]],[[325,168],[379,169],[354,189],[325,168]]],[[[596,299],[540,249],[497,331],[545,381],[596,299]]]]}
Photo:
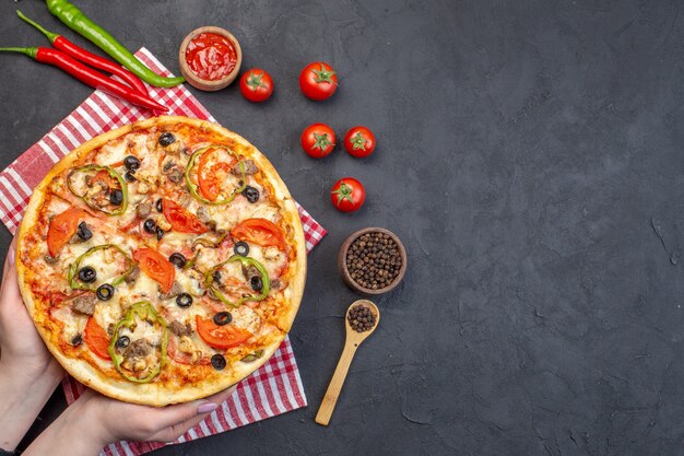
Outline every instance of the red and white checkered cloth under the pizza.
{"type": "MultiPolygon", "coordinates": [[[[172,75],[152,54],[142,48],[137,54],[160,74],[172,75]]],[[[215,121],[209,112],[184,86],[149,87],[150,95],[170,108],[170,114],[215,121]]],[[[52,165],[89,139],[113,128],[150,117],[151,113],[96,91],[60,121],[38,142],[0,173],[0,220],[14,233],[24,209],[37,186],[52,165]]],[[[297,206],[304,225],[306,248],[310,252],[326,235],[326,230],[297,206]]],[[[72,404],[83,385],[68,377],[62,382],[67,401],[72,404]]],[[[290,339],[259,371],[245,378],[233,396],[208,419],[192,428],[176,443],[216,434],[266,418],[305,407],[306,396],[290,339]]],[[[163,443],[119,442],[103,448],[101,455],[135,456],[164,446],[163,443]]]]}

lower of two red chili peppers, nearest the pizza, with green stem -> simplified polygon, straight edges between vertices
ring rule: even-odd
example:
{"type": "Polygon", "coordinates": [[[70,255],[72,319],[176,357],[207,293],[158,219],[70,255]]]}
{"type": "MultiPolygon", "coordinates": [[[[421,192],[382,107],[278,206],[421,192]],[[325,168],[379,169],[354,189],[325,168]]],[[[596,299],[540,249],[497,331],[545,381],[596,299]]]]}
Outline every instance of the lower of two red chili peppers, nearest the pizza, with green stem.
{"type": "Polygon", "coordinates": [[[134,89],[115,81],[99,71],[93,70],[91,67],[69,57],[61,50],[49,47],[0,47],[0,51],[25,54],[40,63],[48,63],[59,68],[91,87],[99,89],[105,93],[123,98],[134,105],[155,110],[168,110],[166,106],[158,104],[149,96],[144,96],[134,89]]]}

